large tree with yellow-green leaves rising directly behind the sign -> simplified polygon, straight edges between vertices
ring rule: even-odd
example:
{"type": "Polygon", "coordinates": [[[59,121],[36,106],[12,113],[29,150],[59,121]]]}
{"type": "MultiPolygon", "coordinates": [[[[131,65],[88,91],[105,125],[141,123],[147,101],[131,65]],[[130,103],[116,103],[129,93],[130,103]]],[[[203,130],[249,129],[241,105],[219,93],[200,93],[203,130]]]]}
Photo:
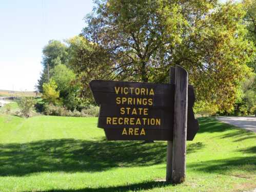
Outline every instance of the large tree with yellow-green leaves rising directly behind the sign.
{"type": "Polygon", "coordinates": [[[230,110],[253,53],[245,13],[214,0],[97,1],[83,35],[108,53],[114,77],[165,82],[181,65],[199,99],[230,110]]]}

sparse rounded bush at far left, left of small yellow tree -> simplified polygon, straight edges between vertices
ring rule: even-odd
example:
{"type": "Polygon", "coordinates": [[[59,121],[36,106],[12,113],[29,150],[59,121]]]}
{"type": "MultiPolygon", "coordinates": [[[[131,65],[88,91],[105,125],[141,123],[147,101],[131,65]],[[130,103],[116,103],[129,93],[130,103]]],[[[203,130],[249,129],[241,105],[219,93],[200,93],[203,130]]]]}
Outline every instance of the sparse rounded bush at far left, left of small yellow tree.
{"type": "Polygon", "coordinates": [[[18,101],[19,109],[21,110],[21,116],[31,117],[31,113],[34,109],[35,100],[32,97],[22,97],[18,101]]]}

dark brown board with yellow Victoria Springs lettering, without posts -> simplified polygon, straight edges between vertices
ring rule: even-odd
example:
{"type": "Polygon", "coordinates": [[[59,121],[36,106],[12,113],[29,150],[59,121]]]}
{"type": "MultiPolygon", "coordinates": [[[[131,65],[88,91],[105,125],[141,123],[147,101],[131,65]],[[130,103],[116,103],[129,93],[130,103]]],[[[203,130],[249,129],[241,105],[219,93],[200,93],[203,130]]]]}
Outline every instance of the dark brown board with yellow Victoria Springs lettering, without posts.
{"type": "MultiPolygon", "coordinates": [[[[172,140],[174,84],[92,80],[100,104],[98,127],[108,140],[172,140]]],[[[193,87],[188,87],[187,140],[199,129],[194,119],[193,87]]]]}

